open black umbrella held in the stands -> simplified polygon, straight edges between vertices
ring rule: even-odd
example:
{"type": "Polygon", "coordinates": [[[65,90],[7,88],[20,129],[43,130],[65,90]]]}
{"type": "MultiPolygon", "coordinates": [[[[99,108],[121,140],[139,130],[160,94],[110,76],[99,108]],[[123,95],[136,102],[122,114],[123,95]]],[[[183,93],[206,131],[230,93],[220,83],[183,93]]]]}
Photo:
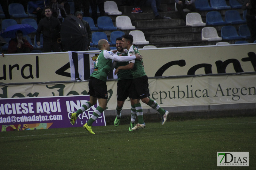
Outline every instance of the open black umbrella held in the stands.
{"type": "Polygon", "coordinates": [[[60,37],[63,51],[87,49],[88,34],[82,21],[74,15],[66,17],[61,24],[60,37]]]}

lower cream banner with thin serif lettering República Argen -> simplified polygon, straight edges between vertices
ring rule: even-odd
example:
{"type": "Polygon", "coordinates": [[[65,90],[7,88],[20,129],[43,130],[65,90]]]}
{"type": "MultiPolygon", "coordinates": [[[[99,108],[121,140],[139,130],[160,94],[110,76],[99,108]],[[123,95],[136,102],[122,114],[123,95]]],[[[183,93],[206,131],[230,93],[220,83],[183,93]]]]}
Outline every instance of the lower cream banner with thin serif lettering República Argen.
{"type": "MultiPolygon", "coordinates": [[[[161,107],[256,103],[256,74],[149,78],[150,98],[161,107]]],[[[108,104],[116,109],[117,81],[107,81],[108,104]]],[[[88,81],[65,84],[2,85],[0,98],[86,95],[88,81]]],[[[0,109],[4,106],[1,105],[0,109]]],[[[129,99],[123,109],[131,107],[129,99]]],[[[142,104],[143,108],[150,108],[142,104]]]]}

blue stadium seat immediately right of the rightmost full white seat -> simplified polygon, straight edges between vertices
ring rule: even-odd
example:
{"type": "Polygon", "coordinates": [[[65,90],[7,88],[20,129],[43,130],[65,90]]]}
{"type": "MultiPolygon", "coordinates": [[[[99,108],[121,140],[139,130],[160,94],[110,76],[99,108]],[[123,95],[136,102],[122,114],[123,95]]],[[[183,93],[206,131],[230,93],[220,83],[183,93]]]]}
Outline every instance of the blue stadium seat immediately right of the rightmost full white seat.
{"type": "Polygon", "coordinates": [[[223,40],[242,39],[242,37],[237,34],[236,28],[234,26],[223,26],[221,28],[221,37],[223,40]]]}

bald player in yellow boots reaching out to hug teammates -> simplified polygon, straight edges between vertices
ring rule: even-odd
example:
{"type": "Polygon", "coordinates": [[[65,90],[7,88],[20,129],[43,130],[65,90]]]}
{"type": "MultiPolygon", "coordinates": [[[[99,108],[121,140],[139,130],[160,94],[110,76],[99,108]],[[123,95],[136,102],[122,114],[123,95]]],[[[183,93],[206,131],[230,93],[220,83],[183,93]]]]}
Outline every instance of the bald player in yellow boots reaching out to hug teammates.
{"type": "Polygon", "coordinates": [[[93,111],[91,118],[87,123],[84,124],[84,129],[88,130],[91,134],[95,134],[92,131],[92,123],[100,117],[101,113],[107,107],[107,99],[108,99],[108,90],[107,90],[107,76],[110,72],[112,60],[123,62],[129,61],[132,59],[140,60],[141,55],[136,54],[133,56],[118,56],[115,55],[112,51],[110,51],[110,45],[107,40],[100,40],[98,42],[98,46],[100,48],[100,54],[96,60],[94,66],[94,72],[90,76],[89,79],[89,92],[90,101],[85,102],[75,113],[71,114],[70,123],[72,125],[75,124],[77,116],[83,113],[85,110],[90,108],[91,106],[99,102],[99,106],[93,111]]]}

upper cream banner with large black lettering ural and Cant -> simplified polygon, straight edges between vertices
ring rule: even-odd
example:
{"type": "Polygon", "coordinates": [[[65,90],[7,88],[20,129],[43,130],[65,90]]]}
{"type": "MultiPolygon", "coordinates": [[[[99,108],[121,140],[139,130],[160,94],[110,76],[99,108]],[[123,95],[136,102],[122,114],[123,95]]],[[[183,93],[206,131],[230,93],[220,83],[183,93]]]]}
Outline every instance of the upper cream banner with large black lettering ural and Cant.
{"type": "MultiPolygon", "coordinates": [[[[139,51],[143,55],[148,77],[256,71],[256,43],[139,51]]],[[[97,52],[88,54],[91,59],[97,52]]],[[[87,61],[83,62],[84,71],[90,70],[87,68],[87,61]]],[[[0,57],[0,83],[69,80],[71,76],[68,52],[12,54],[0,57]]]]}

